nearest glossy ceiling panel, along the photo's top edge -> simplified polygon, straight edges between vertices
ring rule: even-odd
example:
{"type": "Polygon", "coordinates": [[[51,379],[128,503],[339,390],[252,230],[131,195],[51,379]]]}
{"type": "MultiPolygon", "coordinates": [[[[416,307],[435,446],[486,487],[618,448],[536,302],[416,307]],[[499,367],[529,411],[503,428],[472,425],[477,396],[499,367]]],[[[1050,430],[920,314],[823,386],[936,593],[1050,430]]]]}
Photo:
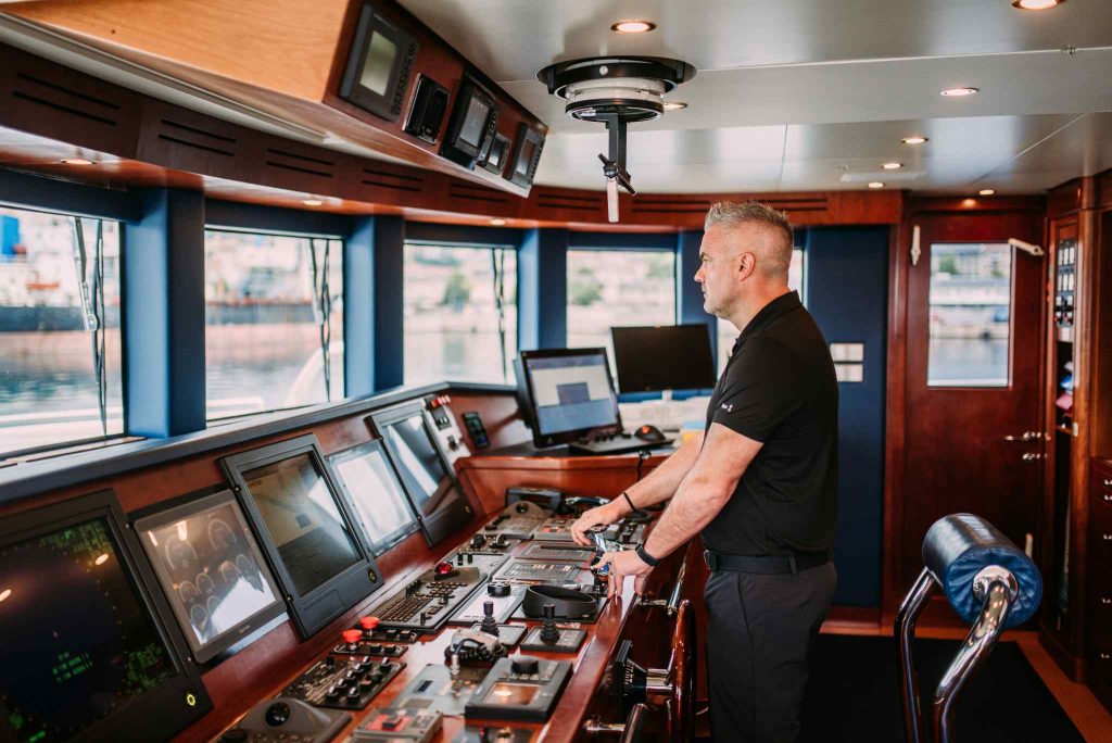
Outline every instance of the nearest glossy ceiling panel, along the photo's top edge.
{"type": "Polygon", "coordinates": [[[401,0],[487,75],[530,80],[554,60],[676,57],[699,69],[1112,46],[1112,2],[1049,12],[1009,0],[401,0]],[[623,19],[657,23],[619,34],[623,19]]]}

